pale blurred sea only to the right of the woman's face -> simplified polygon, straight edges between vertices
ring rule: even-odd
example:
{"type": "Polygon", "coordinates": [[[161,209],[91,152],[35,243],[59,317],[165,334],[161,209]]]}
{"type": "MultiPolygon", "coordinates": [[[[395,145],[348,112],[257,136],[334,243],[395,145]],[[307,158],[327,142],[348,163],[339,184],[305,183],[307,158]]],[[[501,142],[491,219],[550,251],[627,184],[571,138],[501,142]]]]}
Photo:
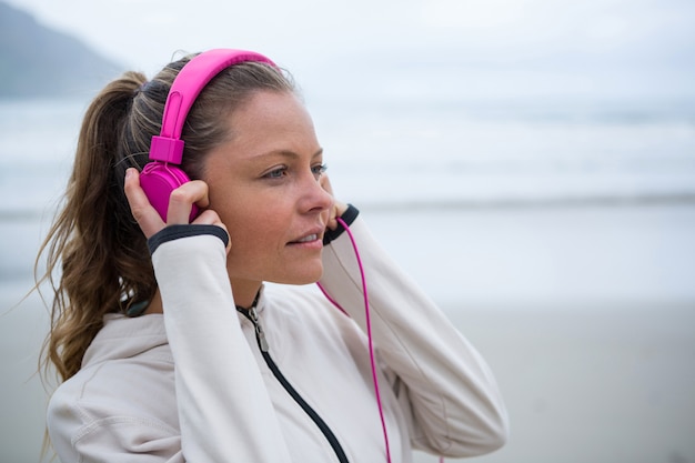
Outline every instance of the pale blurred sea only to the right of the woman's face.
{"type": "Polygon", "coordinates": [[[695,193],[695,111],[687,107],[462,102],[316,112],[331,174],[370,205],[624,203],[695,193]]]}

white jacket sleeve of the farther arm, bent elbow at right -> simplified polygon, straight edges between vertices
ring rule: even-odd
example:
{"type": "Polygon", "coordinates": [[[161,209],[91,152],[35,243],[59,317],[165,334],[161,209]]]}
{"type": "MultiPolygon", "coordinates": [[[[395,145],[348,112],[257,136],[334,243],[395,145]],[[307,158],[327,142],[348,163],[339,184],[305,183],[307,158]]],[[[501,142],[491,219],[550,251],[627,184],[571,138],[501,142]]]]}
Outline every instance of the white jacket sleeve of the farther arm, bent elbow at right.
{"type": "MultiPolygon", "coordinates": [[[[365,272],[374,345],[405,385],[399,403],[410,409],[404,414],[413,445],[449,457],[502,446],[506,410],[485,361],[391,261],[361,219],[350,230],[365,272]]],[[[321,285],[366,331],[360,269],[348,233],[325,246],[323,262],[321,285]]]]}

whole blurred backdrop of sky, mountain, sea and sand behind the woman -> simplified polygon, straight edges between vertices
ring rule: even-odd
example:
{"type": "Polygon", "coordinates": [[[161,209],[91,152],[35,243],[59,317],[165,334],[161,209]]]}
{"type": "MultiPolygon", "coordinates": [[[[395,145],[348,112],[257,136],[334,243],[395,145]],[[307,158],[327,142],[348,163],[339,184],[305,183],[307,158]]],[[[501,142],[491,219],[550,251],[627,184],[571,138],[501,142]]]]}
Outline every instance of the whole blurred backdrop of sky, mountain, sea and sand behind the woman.
{"type": "Polygon", "coordinates": [[[0,1],[0,461],[39,461],[23,295],[87,104],[210,48],[294,74],[336,194],[490,362],[512,434],[473,461],[695,462],[691,0],[0,1]]]}

